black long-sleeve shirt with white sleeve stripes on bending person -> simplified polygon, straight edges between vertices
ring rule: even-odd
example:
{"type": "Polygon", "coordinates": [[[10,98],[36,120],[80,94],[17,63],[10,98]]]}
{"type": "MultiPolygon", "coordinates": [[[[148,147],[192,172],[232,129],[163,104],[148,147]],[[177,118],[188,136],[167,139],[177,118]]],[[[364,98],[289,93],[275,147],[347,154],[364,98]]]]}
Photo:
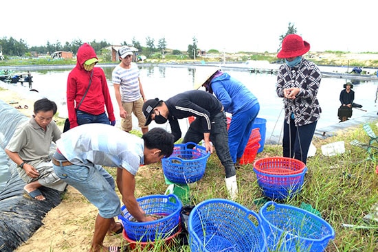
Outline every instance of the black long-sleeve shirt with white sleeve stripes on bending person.
{"type": "Polygon", "coordinates": [[[222,104],[216,97],[201,90],[179,93],[165,101],[168,107],[168,121],[172,134],[177,141],[181,137],[178,119],[190,116],[201,120],[201,132],[210,133],[212,117],[221,113],[222,104]]]}

